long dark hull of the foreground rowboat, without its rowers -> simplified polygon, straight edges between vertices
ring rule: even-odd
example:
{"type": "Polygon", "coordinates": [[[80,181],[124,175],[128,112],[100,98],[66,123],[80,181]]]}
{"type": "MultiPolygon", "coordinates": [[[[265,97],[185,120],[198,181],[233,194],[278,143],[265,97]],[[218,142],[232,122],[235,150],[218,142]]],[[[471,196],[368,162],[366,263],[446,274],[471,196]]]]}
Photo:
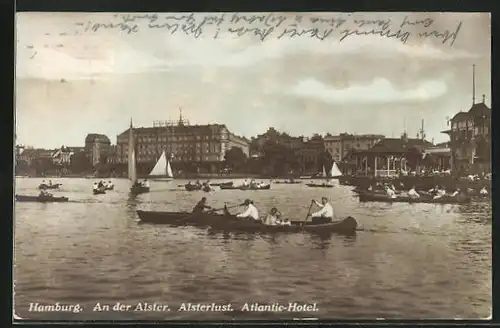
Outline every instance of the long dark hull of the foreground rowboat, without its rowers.
{"type": "Polygon", "coordinates": [[[137,211],[142,223],[166,224],[170,226],[195,226],[209,227],[217,231],[233,232],[301,232],[310,233],[339,233],[353,234],[356,232],[357,221],[352,217],[347,217],[338,222],[316,224],[306,223],[302,227],[303,221],[291,221],[291,226],[267,226],[260,221],[240,219],[235,215],[202,213],[192,214],[189,212],[155,212],[137,211]]]}

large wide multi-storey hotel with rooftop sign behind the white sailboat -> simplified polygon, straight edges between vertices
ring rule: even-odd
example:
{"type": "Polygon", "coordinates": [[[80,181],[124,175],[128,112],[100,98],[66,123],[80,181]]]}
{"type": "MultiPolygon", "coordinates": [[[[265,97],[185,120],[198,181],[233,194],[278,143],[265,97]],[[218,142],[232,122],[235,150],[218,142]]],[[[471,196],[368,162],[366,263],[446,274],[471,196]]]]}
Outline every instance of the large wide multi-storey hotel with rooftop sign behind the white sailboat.
{"type": "MultiPolygon", "coordinates": [[[[224,124],[190,125],[182,119],[177,122],[154,122],[153,127],[134,128],[137,163],[154,164],[163,151],[172,165],[185,169],[193,165],[198,172],[219,172],[223,168],[226,151],[241,148],[249,156],[249,140],[231,133],[224,124]]],[[[116,158],[128,162],[129,129],[117,136],[116,158]]]]}

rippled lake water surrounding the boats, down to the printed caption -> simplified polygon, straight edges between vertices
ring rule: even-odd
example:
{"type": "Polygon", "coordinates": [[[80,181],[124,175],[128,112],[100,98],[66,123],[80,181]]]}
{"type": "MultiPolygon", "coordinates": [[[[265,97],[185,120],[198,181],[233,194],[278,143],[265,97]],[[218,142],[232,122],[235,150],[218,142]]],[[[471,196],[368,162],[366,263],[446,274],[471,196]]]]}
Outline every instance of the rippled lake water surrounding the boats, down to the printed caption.
{"type": "MultiPolygon", "coordinates": [[[[491,314],[491,205],[359,203],[350,187],[273,185],[269,191],[186,192],[185,181],[129,182],[94,196],[92,180],[59,179],[72,202],[17,203],[15,312],[50,320],[487,318],[491,314]],[[136,209],[190,210],[202,196],[222,207],[245,198],[303,219],[327,195],[355,237],[222,234],[138,224],[136,209]],[[80,313],[30,312],[30,303],[80,304],[80,313]],[[168,304],[170,311],[93,311],[96,303],[168,304]],[[178,311],[181,303],[231,303],[231,312],[178,311]],[[245,303],[317,303],[316,312],[241,311],[245,303]]],[[[41,179],[17,179],[36,194],[41,179]]]]}

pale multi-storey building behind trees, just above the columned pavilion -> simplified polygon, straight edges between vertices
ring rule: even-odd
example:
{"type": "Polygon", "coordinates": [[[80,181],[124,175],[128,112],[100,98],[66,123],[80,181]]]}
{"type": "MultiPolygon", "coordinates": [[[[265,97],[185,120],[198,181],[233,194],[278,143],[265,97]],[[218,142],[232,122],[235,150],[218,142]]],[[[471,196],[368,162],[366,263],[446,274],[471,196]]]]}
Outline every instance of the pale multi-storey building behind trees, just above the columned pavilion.
{"type": "Polygon", "coordinates": [[[341,133],[333,136],[327,134],[324,137],[325,150],[330,153],[336,162],[344,160],[352,150],[366,150],[373,147],[385,136],[379,134],[348,134],[341,133]]]}

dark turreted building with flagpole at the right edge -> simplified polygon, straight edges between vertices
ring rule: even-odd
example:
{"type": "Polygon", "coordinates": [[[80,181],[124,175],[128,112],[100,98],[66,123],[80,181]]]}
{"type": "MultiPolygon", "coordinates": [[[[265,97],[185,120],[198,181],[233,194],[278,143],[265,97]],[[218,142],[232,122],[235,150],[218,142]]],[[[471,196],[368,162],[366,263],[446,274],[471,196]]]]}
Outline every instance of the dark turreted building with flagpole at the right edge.
{"type": "Polygon", "coordinates": [[[483,101],[449,121],[451,167],[458,171],[491,171],[491,109],[483,101]]]}

